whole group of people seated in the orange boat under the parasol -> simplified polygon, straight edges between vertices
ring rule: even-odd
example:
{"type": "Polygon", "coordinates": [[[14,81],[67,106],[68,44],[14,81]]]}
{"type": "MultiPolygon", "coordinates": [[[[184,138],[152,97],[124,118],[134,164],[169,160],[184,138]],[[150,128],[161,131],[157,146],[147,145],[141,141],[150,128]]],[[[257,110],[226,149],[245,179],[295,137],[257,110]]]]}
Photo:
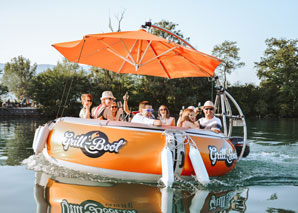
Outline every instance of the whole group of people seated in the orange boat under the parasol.
{"type": "MultiPolygon", "coordinates": [[[[102,120],[112,121],[125,121],[125,114],[130,115],[131,112],[128,108],[128,94],[123,96],[123,107],[122,103],[116,103],[116,98],[113,96],[111,91],[104,91],[101,96],[101,104],[97,107],[92,105],[92,96],[90,94],[83,94],[81,101],[83,108],[80,111],[81,118],[94,118],[102,120]],[[124,113],[125,112],[125,113],[124,113]]],[[[193,106],[180,112],[179,119],[177,122],[178,127],[192,128],[192,129],[206,129],[216,133],[221,132],[222,124],[221,120],[214,116],[216,107],[212,101],[206,101],[202,110],[205,117],[196,119],[199,108],[193,106]]],[[[142,101],[139,104],[138,112],[132,117],[132,123],[148,124],[154,126],[169,125],[175,126],[175,118],[170,116],[170,111],[165,105],[161,105],[158,109],[158,117],[155,119],[153,114],[152,104],[148,101],[142,101]]]]}

